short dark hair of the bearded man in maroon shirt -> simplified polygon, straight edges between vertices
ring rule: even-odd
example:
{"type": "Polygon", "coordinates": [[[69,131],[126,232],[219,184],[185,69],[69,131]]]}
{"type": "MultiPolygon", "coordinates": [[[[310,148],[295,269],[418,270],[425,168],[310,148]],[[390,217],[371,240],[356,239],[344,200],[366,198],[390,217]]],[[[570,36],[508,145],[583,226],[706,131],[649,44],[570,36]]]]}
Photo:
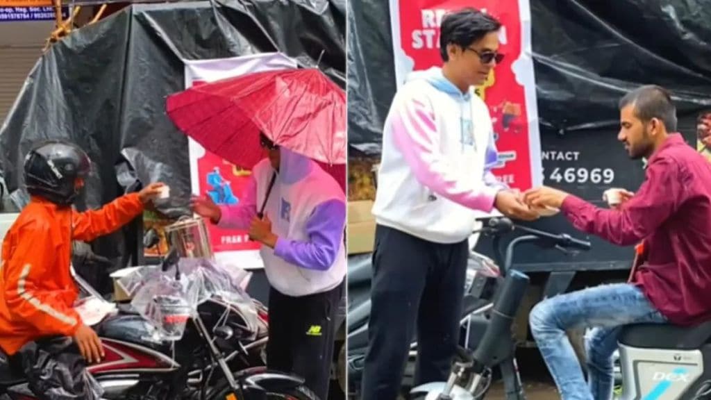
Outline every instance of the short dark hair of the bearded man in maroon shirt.
{"type": "Polygon", "coordinates": [[[676,107],[669,92],[657,85],[644,85],[620,99],[619,108],[632,105],[634,115],[642,122],[652,118],[660,120],[667,132],[676,132],[676,107]]]}

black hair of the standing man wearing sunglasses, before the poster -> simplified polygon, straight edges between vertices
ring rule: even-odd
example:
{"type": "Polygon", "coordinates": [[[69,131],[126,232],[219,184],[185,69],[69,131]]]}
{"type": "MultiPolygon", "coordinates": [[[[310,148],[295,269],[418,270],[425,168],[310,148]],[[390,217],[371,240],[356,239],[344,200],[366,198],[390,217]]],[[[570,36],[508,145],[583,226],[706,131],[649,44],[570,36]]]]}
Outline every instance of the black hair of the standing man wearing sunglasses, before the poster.
{"type": "Polygon", "coordinates": [[[467,48],[471,43],[479,41],[487,33],[498,31],[499,28],[501,22],[498,19],[471,7],[447,13],[439,26],[439,55],[442,60],[449,61],[448,44],[467,48]]]}

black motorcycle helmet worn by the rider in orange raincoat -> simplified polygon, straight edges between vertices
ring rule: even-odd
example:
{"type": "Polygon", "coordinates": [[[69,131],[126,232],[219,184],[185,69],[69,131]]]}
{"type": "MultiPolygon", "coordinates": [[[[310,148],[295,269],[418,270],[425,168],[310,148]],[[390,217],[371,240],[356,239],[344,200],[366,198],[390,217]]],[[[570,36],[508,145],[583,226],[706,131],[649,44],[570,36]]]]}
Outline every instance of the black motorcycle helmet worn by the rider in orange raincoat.
{"type": "Polygon", "coordinates": [[[27,191],[55,204],[69,206],[79,195],[75,181],[89,174],[91,160],[76,144],[47,140],[25,157],[27,191]]]}

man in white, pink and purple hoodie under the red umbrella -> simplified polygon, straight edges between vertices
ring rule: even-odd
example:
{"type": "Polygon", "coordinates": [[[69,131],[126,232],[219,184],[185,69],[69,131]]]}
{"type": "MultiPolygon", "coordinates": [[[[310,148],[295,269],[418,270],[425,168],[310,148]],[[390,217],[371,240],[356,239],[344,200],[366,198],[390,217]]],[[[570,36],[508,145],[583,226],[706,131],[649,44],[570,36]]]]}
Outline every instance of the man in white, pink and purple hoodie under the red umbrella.
{"type": "Polygon", "coordinates": [[[274,145],[252,169],[239,204],[193,198],[193,210],[225,228],[249,229],[269,291],[267,367],[306,379],[328,399],[338,305],[346,277],[346,194],[313,160],[274,145]]]}

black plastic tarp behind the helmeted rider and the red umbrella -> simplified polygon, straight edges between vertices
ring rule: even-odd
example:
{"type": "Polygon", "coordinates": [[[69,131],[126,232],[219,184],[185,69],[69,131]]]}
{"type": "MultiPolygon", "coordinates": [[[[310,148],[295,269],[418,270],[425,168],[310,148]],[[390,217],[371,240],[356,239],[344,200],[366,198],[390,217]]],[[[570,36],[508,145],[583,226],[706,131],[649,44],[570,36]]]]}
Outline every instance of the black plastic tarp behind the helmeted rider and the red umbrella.
{"type": "MultiPolygon", "coordinates": [[[[74,31],[38,61],[0,130],[0,177],[12,202],[28,200],[20,189],[28,148],[60,137],[94,162],[79,209],[164,181],[171,199],[159,211],[188,214],[188,140],[165,112],[166,96],[184,89],[181,59],[281,51],[318,63],[345,89],[345,9],[345,0],[134,4],[74,31]]],[[[125,263],[139,241],[132,228],[98,239],[96,253],[125,263]]]]}

